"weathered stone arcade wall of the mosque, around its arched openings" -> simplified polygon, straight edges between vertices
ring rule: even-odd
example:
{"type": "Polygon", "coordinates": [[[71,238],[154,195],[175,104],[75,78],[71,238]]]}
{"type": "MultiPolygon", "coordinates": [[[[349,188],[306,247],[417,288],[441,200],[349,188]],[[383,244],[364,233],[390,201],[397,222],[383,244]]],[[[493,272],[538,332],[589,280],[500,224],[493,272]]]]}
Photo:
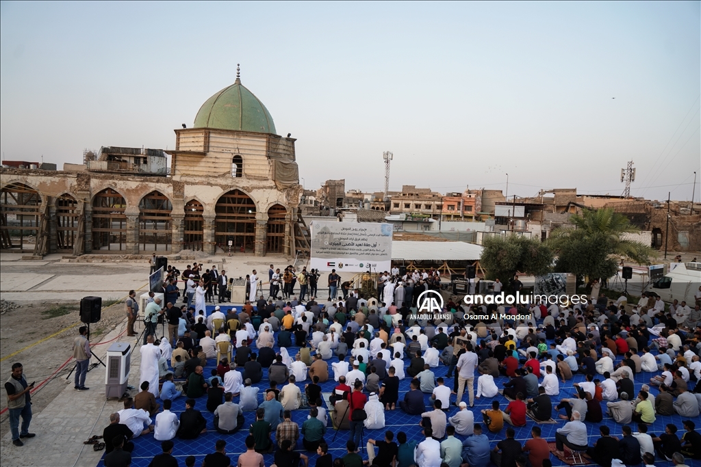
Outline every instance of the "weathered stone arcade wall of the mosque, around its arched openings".
{"type": "MultiPolygon", "coordinates": [[[[124,199],[124,204],[117,206],[115,211],[123,211],[126,217],[124,230],[126,247],[119,248],[121,253],[139,253],[139,220],[141,214],[139,204],[144,196],[157,191],[168,198],[172,209],[170,211],[170,225],[172,225],[170,251],[177,253],[182,249],[184,232],[184,205],[197,200],[203,205],[203,249],[205,253],[214,254],[215,244],[215,209],[217,200],[231,190],[240,190],[245,193],[255,204],[255,248],[256,256],[266,254],[266,230],[268,223],[268,210],[279,204],[287,211],[285,223],[290,224],[285,228],[285,251],[283,254],[294,254],[292,245],[292,214],[297,210],[301,186],[295,185],[284,190],[278,190],[272,181],[257,181],[252,179],[237,179],[233,177],[188,177],[187,181],[173,180],[163,176],[130,176],[121,174],[100,174],[95,172],[50,172],[42,170],[11,169],[0,170],[0,187],[6,188],[14,183],[36,190],[41,197],[41,203],[49,203],[50,200],[62,195],[74,197],[78,202],[79,232],[81,241],[76,242],[74,255],[93,252],[93,201],[95,195],[106,189],[114,190],[124,199]],[[208,241],[207,241],[208,239],[208,241]]],[[[103,213],[104,214],[104,213],[103,213]]],[[[108,213],[109,214],[109,213],[108,213]]],[[[104,215],[103,215],[104,218],[104,215]]],[[[103,226],[104,228],[104,226],[103,226]]],[[[110,228],[111,229],[111,228],[110,228]]],[[[53,232],[53,230],[52,230],[53,232]]],[[[120,240],[122,243],[122,241],[120,240]]],[[[53,242],[55,243],[55,242],[53,242]]],[[[120,245],[121,245],[120,243],[120,245]]],[[[144,246],[142,248],[145,250],[144,246]]],[[[118,251],[118,252],[119,252],[118,251]]],[[[97,251],[95,251],[97,252],[97,251]]],[[[147,253],[147,251],[144,251],[147,253]]]]}

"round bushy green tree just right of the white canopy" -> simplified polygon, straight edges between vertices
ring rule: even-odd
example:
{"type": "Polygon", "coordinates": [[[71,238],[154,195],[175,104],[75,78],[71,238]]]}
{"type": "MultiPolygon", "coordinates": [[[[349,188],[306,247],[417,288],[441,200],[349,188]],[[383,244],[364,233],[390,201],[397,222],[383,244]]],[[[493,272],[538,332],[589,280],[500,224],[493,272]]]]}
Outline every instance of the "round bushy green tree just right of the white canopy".
{"type": "Polygon", "coordinates": [[[500,279],[508,284],[517,272],[534,276],[550,272],[552,251],[538,239],[517,235],[488,237],[482,247],[479,263],[486,271],[486,279],[500,279]]]}

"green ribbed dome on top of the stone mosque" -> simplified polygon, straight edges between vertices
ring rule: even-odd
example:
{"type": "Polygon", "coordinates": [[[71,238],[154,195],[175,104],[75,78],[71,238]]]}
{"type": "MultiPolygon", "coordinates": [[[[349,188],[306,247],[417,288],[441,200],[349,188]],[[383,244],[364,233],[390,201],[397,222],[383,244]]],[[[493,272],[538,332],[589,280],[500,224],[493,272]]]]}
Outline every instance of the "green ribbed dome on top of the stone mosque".
{"type": "Polygon", "coordinates": [[[217,128],[242,132],[275,133],[268,109],[236,78],[202,104],[195,117],[195,128],[217,128]]]}

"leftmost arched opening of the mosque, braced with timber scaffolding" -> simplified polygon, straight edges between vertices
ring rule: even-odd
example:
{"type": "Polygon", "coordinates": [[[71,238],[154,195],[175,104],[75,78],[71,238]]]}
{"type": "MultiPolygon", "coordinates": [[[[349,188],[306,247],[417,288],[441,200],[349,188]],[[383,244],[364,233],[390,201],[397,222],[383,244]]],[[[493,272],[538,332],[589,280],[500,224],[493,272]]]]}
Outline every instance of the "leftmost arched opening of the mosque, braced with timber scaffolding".
{"type": "Polygon", "coordinates": [[[39,230],[41,196],[22,183],[0,192],[0,236],[3,249],[34,250],[39,230]]]}

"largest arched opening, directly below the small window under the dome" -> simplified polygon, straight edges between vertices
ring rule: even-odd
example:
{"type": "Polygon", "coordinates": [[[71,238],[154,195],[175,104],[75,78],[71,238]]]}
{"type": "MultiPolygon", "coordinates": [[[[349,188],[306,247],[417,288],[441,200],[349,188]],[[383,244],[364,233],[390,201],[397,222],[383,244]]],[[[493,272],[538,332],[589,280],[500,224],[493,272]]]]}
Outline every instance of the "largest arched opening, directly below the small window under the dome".
{"type": "Polygon", "coordinates": [[[215,242],[219,248],[255,250],[256,204],[248,195],[240,190],[222,195],[215,206],[215,214],[215,242]]]}

